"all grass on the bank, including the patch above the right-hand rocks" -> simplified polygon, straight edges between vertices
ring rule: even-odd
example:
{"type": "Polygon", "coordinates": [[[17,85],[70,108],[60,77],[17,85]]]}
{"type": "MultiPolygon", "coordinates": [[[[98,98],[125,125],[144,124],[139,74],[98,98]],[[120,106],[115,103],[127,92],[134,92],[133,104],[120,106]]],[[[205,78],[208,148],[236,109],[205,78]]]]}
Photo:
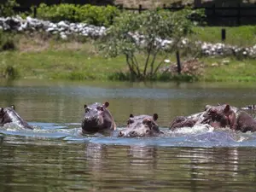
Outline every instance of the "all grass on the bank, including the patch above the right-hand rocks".
{"type": "MultiPolygon", "coordinates": [[[[190,38],[219,42],[220,27],[197,27],[190,38]]],[[[255,26],[227,29],[228,44],[256,44],[255,26]]],[[[118,72],[126,72],[125,58],[105,58],[89,39],[62,41],[45,34],[16,35],[15,50],[0,52],[0,77],[16,79],[98,79],[108,80],[118,72]]],[[[142,59],[142,58],[141,58],[142,59]]],[[[182,57],[184,61],[186,58],[182,57]]],[[[175,57],[170,56],[171,61],[175,57]]],[[[202,57],[204,73],[201,81],[256,81],[256,61],[235,58],[202,57]],[[229,61],[222,64],[222,61],[229,61]]],[[[119,77],[117,77],[119,78],[119,77]]]]}

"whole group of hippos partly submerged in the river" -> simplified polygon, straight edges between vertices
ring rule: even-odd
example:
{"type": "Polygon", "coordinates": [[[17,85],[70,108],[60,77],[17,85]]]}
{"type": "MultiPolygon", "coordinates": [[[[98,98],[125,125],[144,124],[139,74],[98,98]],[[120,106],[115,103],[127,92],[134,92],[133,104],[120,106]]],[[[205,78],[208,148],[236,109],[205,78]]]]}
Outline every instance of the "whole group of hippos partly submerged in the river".
{"type": "MultiPolygon", "coordinates": [[[[84,105],[84,118],[81,124],[81,133],[90,134],[96,132],[114,131],[116,124],[108,110],[109,102],[95,102],[84,105]]],[[[234,131],[256,131],[256,120],[253,119],[247,109],[256,109],[255,105],[246,108],[236,108],[229,104],[207,105],[204,111],[189,116],[177,116],[172,120],[169,129],[175,131],[182,127],[193,127],[198,124],[211,125],[213,128],[229,128],[234,131]]],[[[156,123],[158,114],[138,115],[130,114],[127,125],[119,131],[118,137],[157,137],[164,134],[156,123]]],[[[33,127],[20,117],[15,111],[15,106],[0,108],[0,126],[13,123],[20,128],[33,127]]]]}

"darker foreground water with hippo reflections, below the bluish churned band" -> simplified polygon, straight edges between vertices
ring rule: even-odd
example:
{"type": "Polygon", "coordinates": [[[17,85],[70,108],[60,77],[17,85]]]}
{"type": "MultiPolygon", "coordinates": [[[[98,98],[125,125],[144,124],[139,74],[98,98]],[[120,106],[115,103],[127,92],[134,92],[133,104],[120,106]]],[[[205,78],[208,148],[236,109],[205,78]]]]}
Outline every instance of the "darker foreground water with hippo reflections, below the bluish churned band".
{"type": "Polygon", "coordinates": [[[99,143],[27,148],[11,143],[2,139],[1,191],[255,188],[255,148],[160,148],[99,143]]]}

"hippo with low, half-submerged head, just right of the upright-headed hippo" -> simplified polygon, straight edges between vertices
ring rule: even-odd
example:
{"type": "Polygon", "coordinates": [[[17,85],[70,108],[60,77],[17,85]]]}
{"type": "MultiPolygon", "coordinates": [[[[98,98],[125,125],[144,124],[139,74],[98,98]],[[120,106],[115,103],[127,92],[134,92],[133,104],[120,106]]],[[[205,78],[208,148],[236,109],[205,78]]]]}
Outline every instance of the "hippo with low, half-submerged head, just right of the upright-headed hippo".
{"type": "Polygon", "coordinates": [[[127,127],[123,131],[119,131],[118,137],[154,137],[159,136],[159,126],[155,122],[158,119],[158,114],[149,115],[130,115],[127,120],[127,127]]]}

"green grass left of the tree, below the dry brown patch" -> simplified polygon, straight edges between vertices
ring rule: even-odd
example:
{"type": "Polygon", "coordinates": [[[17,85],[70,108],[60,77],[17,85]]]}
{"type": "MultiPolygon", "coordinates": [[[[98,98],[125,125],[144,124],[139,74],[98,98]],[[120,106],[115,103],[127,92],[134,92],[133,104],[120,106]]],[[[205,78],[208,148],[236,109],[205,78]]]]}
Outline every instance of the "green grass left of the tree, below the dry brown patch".
{"type": "Polygon", "coordinates": [[[13,66],[19,78],[26,79],[108,79],[114,69],[125,67],[121,57],[106,59],[70,50],[7,51],[0,54],[0,61],[0,71],[13,66]]]}

